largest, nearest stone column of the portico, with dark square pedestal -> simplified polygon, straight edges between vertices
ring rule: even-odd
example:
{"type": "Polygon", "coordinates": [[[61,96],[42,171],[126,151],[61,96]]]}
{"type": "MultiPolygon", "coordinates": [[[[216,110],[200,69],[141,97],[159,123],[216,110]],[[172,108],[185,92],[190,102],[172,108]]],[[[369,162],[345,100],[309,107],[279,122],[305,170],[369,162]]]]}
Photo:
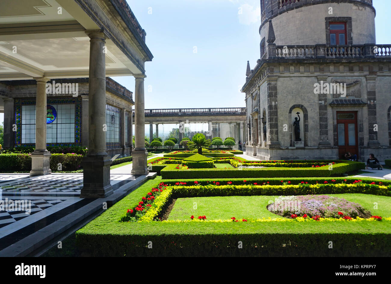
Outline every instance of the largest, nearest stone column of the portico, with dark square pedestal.
{"type": "Polygon", "coordinates": [[[80,197],[100,198],[113,193],[110,184],[111,159],[106,153],[106,36],[90,32],[88,83],[88,154],[84,157],[83,188],[80,197]]]}

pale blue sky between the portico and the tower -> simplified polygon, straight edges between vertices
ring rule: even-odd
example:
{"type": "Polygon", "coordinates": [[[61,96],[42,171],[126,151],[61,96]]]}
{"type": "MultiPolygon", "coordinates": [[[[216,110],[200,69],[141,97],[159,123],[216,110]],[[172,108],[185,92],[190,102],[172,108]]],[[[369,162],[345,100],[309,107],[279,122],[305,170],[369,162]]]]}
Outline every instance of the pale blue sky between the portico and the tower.
{"type": "MultiPolygon", "coordinates": [[[[154,55],[145,64],[145,108],[245,106],[246,63],[253,68],[260,57],[259,0],[127,2],[154,55]]],[[[373,2],[377,44],[389,44],[389,0],[373,2]]],[[[134,91],[133,77],[113,79],[134,91]]]]}

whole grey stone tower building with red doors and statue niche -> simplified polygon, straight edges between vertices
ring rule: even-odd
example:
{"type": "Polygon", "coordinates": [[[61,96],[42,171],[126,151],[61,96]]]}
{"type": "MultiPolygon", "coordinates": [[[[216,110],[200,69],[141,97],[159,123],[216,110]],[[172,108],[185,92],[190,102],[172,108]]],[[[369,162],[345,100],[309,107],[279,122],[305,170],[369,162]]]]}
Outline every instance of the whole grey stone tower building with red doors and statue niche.
{"type": "Polygon", "coordinates": [[[376,44],[372,0],[260,5],[260,59],[242,88],[247,154],[391,158],[391,44],[376,44]]]}

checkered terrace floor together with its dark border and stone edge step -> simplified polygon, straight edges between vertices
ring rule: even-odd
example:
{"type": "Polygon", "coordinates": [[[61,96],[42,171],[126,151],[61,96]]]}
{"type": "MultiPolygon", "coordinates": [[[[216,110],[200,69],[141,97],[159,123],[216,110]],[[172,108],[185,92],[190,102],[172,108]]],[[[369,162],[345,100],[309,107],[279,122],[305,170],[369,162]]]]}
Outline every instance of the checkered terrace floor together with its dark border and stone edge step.
{"type": "Polygon", "coordinates": [[[68,229],[79,229],[154,176],[112,173],[114,193],[96,199],[79,197],[82,173],[0,174],[0,256],[26,256],[68,229]]]}

